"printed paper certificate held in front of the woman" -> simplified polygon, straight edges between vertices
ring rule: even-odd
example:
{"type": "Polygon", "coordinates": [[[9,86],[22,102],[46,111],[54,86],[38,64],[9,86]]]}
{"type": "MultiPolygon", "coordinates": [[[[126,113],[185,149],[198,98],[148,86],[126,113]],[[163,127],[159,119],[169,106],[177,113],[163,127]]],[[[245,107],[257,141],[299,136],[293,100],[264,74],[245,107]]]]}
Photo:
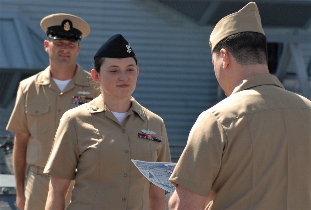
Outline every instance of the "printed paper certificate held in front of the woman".
{"type": "Polygon", "coordinates": [[[176,166],[175,162],[145,162],[131,159],[140,172],[153,184],[165,189],[168,192],[174,192],[175,187],[169,182],[169,177],[176,166]]]}

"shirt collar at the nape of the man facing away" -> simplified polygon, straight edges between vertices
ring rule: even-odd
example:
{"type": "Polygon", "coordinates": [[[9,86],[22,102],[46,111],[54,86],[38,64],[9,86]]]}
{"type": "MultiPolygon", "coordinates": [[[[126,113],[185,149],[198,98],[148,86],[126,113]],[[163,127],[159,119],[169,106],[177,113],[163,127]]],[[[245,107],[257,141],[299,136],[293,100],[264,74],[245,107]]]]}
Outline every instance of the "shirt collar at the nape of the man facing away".
{"type": "Polygon", "coordinates": [[[249,88],[253,88],[260,85],[276,85],[280,88],[284,88],[282,83],[276,78],[276,76],[271,74],[262,74],[262,75],[255,75],[250,76],[246,79],[244,79],[242,82],[240,82],[233,90],[232,94],[237,93],[241,90],[246,90],[249,88]]]}

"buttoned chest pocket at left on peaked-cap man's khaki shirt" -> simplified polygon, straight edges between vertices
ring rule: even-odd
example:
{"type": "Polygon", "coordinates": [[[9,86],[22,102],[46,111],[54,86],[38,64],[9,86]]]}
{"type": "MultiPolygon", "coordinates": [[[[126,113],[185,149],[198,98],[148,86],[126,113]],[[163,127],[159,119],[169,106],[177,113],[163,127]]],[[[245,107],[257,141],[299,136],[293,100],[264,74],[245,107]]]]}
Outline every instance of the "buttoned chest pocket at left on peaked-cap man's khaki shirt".
{"type": "Polygon", "coordinates": [[[30,133],[45,133],[49,127],[49,105],[44,106],[26,106],[27,122],[30,133]]]}

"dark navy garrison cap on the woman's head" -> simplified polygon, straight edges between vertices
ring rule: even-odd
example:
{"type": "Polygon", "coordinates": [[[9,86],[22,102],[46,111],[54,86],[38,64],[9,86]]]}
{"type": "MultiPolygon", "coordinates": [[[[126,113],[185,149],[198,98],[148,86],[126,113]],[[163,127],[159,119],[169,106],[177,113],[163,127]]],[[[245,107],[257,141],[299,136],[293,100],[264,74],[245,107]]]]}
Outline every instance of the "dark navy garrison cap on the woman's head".
{"type": "Polygon", "coordinates": [[[125,58],[134,57],[135,53],[128,41],[121,34],[116,34],[108,39],[96,52],[95,57],[125,58]]]}

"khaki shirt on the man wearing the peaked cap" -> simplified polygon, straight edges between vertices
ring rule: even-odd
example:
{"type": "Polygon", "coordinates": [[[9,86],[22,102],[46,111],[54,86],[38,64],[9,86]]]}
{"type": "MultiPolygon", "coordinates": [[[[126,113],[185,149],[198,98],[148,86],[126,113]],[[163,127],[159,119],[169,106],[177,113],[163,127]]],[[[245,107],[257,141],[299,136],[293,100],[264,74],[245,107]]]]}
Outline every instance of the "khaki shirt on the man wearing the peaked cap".
{"type": "Polygon", "coordinates": [[[90,85],[90,73],[77,66],[74,78],[63,92],[52,79],[49,66],[19,84],[7,130],[30,134],[26,155],[30,165],[45,167],[60,118],[68,109],[79,105],[73,103],[73,96],[83,96],[83,91],[91,99],[99,95],[99,91],[90,85]]]}

